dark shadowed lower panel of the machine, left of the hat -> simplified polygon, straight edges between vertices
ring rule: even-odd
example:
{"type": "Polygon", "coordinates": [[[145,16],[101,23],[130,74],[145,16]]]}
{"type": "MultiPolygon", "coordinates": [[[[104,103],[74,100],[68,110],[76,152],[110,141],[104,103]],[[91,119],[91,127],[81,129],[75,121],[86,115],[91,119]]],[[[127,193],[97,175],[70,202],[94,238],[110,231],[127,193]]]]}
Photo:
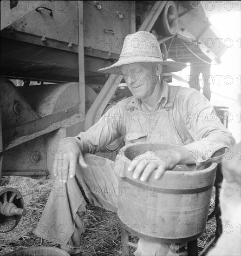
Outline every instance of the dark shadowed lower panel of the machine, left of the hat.
{"type": "MultiPolygon", "coordinates": [[[[42,47],[37,43],[29,44],[19,41],[17,37],[14,38],[14,40],[1,38],[2,75],[55,83],[78,81],[78,54],[65,51],[63,48],[42,47]]],[[[85,56],[85,77],[96,75],[99,68],[113,64],[111,59],[104,59],[104,57],[109,58],[105,52],[99,50],[90,52],[89,48],[85,49],[85,54],[88,55],[85,56]]],[[[118,55],[112,54],[111,58],[118,59],[118,55]]]]}

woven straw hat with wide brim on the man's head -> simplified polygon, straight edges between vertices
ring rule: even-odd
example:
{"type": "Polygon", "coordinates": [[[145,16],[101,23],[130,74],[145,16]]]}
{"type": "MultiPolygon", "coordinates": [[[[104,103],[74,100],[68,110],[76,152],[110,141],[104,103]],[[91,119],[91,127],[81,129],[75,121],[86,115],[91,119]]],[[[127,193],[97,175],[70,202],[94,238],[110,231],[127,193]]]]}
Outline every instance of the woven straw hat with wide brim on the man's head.
{"type": "Polygon", "coordinates": [[[156,36],[146,31],[139,31],[125,37],[119,60],[110,67],[100,68],[98,72],[123,75],[121,66],[136,62],[161,63],[163,65],[162,73],[176,72],[186,67],[184,63],[163,61],[156,36]]]}

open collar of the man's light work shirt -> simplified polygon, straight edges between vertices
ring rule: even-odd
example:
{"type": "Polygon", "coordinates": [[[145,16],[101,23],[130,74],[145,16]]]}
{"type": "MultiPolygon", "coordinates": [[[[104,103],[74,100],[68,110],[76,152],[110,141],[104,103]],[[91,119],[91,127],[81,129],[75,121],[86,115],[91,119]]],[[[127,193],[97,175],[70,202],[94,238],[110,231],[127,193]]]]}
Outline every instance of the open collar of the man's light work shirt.
{"type": "MultiPolygon", "coordinates": [[[[156,104],[156,108],[165,107],[165,105],[168,102],[168,96],[169,96],[169,85],[166,81],[163,79],[161,80],[161,86],[163,87],[163,92],[161,94],[160,100],[156,104]]],[[[141,100],[137,99],[135,97],[130,97],[130,101],[126,104],[126,108],[139,108],[141,107],[141,100]]],[[[157,109],[156,109],[157,110],[157,109]]]]}

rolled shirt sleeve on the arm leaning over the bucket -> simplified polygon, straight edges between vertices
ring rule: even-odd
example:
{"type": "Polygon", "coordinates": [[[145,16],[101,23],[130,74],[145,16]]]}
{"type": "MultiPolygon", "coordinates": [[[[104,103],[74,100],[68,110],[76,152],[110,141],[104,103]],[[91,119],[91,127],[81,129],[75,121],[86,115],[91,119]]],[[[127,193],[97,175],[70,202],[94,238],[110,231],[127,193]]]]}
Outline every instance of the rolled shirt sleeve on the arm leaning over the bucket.
{"type": "Polygon", "coordinates": [[[187,157],[193,155],[197,166],[203,162],[221,162],[225,151],[235,143],[233,135],[221,123],[214,107],[197,90],[180,95],[182,118],[193,142],[183,146],[187,157]]]}

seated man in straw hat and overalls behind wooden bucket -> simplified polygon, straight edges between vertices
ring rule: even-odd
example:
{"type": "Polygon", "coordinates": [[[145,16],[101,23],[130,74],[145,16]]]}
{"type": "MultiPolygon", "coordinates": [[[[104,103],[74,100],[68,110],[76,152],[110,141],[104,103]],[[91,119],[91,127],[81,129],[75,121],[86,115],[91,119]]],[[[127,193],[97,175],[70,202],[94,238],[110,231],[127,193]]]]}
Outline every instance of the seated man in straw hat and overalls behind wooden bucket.
{"type": "MultiPolygon", "coordinates": [[[[128,170],[141,181],[153,171],[159,179],[176,164],[198,168],[204,162],[220,159],[215,152],[228,148],[234,138],[218,120],[209,101],[195,89],[169,86],[160,79],[162,73],[184,67],[182,63],[163,61],[153,34],[140,31],[126,36],[119,61],[99,72],[124,75],[133,97],[118,102],[88,131],[60,141],[59,150],[65,151],[65,157],[54,162],[54,175],[58,175],[54,187],[63,191],[63,197],[50,195],[36,229],[38,236],[77,255],[81,252],[87,203],[117,211],[117,197],[94,191],[118,187],[114,163],[92,154],[120,136],[125,144],[177,144],[178,148],[163,150],[155,160],[141,155],[131,162],[128,170]],[[113,118],[115,114],[119,120],[113,118]],[[211,123],[205,120],[210,114],[211,123]]],[[[180,247],[140,239],[135,255],[179,255],[180,247]]]]}

